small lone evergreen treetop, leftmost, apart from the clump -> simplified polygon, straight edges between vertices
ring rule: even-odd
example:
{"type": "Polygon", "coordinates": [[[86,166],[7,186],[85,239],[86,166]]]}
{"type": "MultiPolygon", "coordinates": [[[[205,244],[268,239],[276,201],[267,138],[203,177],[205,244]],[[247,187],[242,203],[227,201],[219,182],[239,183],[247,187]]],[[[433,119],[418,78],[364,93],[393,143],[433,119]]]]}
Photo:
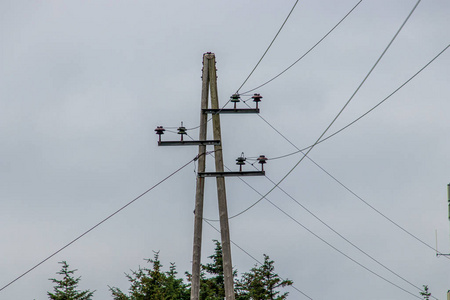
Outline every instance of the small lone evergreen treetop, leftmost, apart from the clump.
{"type": "Polygon", "coordinates": [[[92,299],[92,295],[95,291],[91,292],[89,290],[86,291],[78,291],[78,283],[80,282],[81,277],[74,278],[73,274],[77,270],[69,270],[69,265],[65,261],[59,262],[62,264],[61,271],[56,274],[63,275],[63,279],[58,280],[55,278],[51,278],[53,283],[56,286],[53,287],[54,293],[47,292],[49,299],[52,300],[90,300],[92,299]]]}

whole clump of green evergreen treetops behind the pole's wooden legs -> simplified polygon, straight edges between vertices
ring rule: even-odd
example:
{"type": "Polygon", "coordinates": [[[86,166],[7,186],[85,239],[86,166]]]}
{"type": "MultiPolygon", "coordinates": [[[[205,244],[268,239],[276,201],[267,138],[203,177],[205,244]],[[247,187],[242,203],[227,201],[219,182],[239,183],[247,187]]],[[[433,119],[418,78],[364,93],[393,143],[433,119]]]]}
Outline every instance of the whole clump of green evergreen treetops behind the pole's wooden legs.
{"type": "MultiPolygon", "coordinates": [[[[223,300],[225,298],[225,283],[223,273],[222,245],[214,240],[214,254],[208,258],[211,260],[201,265],[200,273],[200,300],[223,300]]],[[[182,279],[176,277],[174,264],[171,264],[168,272],[163,272],[158,253],[154,259],[148,259],[152,263],[152,269],[139,267],[138,271],[132,271],[126,275],[131,282],[129,294],[120,289],[110,288],[115,300],[187,300],[190,299],[190,286],[184,284],[182,279]]],[[[288,293],[280,294],[280,288],[292,285],[291,280],[283,280],[274,272],[274,261],[264,255],[264,263],[255,266],[248,273],[244,273],[240,280],[235,280],[236,300],[284,300],[288,293]]],[[[192,276],[186,272],[188,282],[192,276]]],[[[233,271],[237,276],[237,271],[233,271]]]]}

